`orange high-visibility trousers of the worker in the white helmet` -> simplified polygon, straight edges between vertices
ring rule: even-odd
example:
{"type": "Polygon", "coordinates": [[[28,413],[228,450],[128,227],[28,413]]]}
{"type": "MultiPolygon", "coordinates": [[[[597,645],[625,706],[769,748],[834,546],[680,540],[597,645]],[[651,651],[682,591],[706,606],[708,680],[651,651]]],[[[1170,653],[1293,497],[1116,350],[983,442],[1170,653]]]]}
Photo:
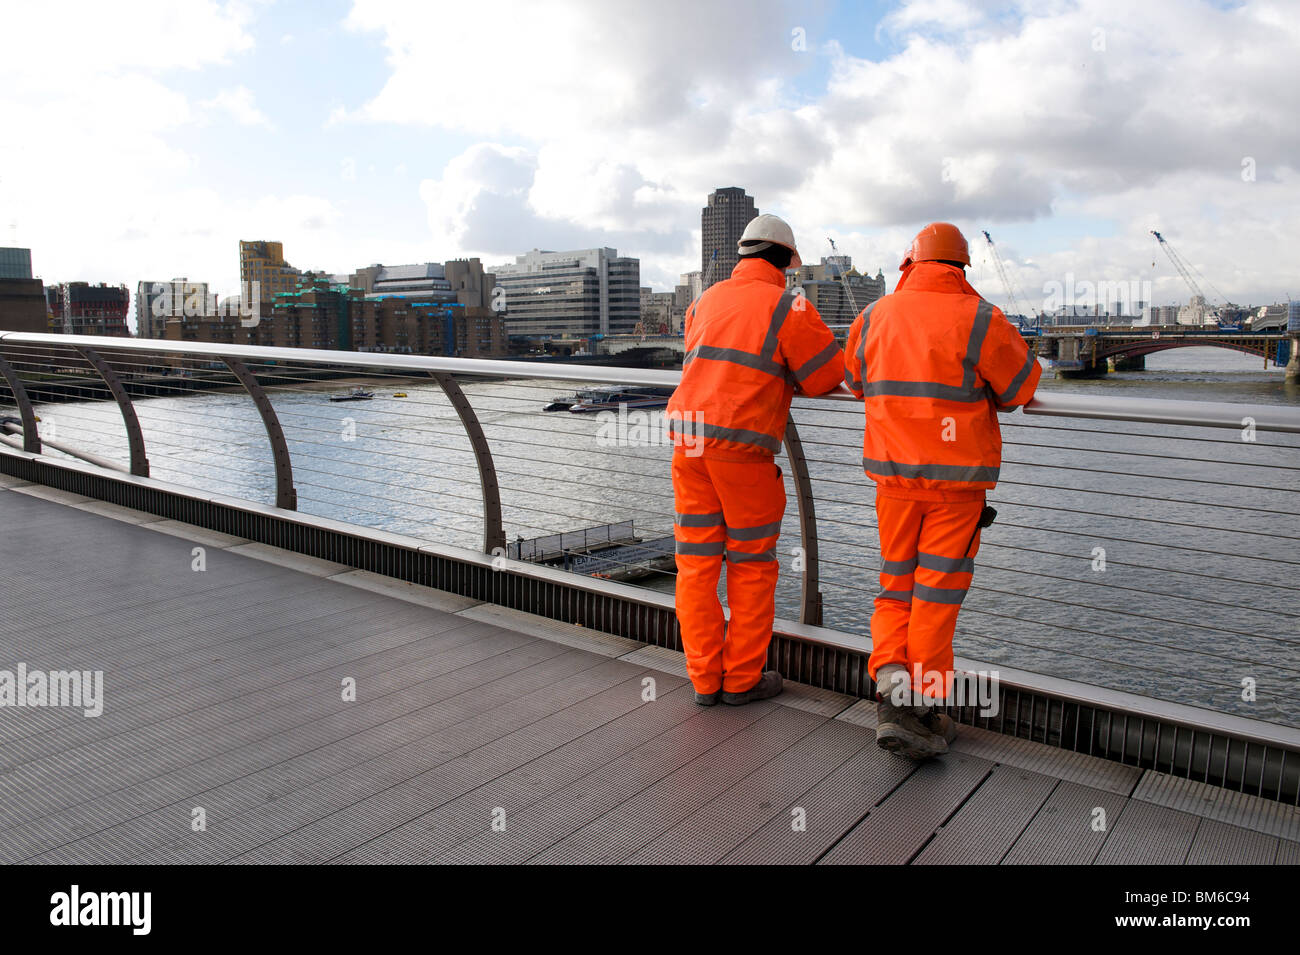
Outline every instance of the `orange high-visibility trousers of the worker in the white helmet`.
{"type": "Polygon", "coordinates": [[[720,461],[675,453],[677,622],[698,693],[745,693],[763,676],[776,616],[781,469],[768,457],[720,461]],[[724,626],[718,581],[727,561],[724,626]]]}

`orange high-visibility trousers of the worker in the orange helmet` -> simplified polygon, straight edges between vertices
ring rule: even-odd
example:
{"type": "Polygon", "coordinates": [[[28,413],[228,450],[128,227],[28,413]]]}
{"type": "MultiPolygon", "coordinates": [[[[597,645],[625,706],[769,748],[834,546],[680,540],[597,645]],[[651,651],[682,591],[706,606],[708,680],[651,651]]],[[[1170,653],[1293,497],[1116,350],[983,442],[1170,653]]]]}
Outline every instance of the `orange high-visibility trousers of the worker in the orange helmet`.
{"type": "Polygon", "coordinates": [[[983,509],[983,492],[919,499],[876,489],[881,590],[871,615],[872,680],[898,664],[927,699],[952,694],[953,633],[975,570],[983,509]]]}

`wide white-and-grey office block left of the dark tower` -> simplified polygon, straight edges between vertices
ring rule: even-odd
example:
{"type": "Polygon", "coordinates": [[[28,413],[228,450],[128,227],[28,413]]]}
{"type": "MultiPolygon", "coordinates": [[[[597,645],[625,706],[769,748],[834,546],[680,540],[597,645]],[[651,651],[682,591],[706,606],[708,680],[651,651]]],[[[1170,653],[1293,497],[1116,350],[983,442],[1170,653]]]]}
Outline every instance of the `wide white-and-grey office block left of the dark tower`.
{"type": "Polygon", "coordinates": [[[490,272],[511,337],[629,335],[641,318],[641,260],[614,248],[533,249],[490,272]]]}

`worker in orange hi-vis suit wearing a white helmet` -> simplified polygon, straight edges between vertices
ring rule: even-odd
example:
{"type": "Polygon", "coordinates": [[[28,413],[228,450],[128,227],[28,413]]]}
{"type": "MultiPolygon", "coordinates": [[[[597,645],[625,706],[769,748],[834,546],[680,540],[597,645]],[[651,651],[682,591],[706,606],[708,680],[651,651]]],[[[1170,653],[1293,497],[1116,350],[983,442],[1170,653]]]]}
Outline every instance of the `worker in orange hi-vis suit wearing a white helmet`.
{"type": "Polygon", "coordinates": [[[677,621],[696,702],[767,699],[781,674],[763,670],[780,569],[785,485],[772,460],[796,386],[840,385],[844,353],[812,304],[785,287],[800,266],[794,234],[776,216],[750,221],[731,278],[686,311],[681,385],[666,417],[673,437],[677,621]],[[727,564],[724,624],[718,582],[727,564]]]}

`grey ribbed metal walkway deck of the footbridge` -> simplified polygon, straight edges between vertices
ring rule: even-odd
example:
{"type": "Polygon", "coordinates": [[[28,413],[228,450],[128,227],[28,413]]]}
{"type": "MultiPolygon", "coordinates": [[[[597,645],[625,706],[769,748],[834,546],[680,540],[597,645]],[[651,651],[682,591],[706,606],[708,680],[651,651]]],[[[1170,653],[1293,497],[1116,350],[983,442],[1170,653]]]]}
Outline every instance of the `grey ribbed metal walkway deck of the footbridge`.
{"type": "Polygon", "coordinates": [[[680,654],[0,477],[4,863],[1297,863],[1295,807],[874,704],[699,708],[680,654]],[[355,699],[348,699],[355,687],[355,699]]]}

